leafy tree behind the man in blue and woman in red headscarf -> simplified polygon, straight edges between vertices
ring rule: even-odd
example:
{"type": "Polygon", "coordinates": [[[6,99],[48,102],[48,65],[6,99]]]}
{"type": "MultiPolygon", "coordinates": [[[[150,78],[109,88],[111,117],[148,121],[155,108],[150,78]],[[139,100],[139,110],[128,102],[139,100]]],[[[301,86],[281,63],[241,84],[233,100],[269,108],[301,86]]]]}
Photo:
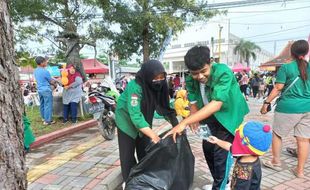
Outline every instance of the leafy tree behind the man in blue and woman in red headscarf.
{"type": "Polygon", "coordinates": [[[92,25],[96,23],[98,10],[93,2],[94,0],[12,0],[10,6],[15,26],[22,25],[24,21],[40,23],[16,27],[23,38],[29,36],[26,34],[35,34],[49,40],[65,52],[67,63],[76,65],[86,79],[79,52],[84,45],[96,46],[92,25]],[[34,30],[36,27],[45,28],[45,32],[39,33],[34,30]],[[87,35],[81,32],[85,30],[88,31],[87,35]]]}

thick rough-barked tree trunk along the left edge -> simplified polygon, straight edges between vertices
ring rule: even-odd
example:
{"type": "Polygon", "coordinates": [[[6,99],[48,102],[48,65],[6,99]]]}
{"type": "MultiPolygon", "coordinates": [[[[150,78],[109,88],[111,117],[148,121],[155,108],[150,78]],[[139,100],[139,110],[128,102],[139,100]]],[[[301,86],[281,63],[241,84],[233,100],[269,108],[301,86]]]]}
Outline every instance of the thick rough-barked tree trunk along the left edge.
{"type": "Polygon", "coordinates": [[[27,189],[23,101],[7,0],[0,1],[0,189],[27,189]]]}

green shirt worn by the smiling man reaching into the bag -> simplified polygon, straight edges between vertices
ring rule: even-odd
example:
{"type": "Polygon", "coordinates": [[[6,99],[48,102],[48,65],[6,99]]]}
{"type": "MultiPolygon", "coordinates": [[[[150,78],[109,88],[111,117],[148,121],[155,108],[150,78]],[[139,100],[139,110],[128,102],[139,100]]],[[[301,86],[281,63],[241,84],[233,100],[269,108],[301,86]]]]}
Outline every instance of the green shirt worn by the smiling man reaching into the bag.
{"type": "MultiPolygon", "coordinates": [[[[189,101],[197,101],[197,106],[202,108],[204,104],[199,81],[188,76],[186,88],[189,101]]],[[[205,91],[209,102],[212,100],[223,102],[221,109],[214,113],[214,116],[234,135],[244,116],[249,113],[249,108],[231,69],[225,64],[213,64],[205,91]]]]}

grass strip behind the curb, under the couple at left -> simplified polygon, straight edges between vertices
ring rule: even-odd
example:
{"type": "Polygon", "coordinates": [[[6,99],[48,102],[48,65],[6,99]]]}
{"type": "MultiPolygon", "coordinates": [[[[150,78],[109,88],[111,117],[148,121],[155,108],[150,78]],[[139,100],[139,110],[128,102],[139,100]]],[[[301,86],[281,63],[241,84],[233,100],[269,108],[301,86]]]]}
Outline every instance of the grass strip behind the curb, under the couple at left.
{"type": "MultiPolygon", "coordinates": [[[[26,114],[31,122],[31,128],[36,137],[57,131],[59,129],[63,129],[72,125],[70,122],[67,124],[62,124],[62,118],[53,117],[56,121],[55,124],[45,126],[43,125],[42,118],[40,116],[40,111],[38,106],[34,107],[26,107],[26,114]]],[[[92,119],[91,115],[85,116],[84,118],[78,118],[78,121],[88,121],[92,119]]]]}

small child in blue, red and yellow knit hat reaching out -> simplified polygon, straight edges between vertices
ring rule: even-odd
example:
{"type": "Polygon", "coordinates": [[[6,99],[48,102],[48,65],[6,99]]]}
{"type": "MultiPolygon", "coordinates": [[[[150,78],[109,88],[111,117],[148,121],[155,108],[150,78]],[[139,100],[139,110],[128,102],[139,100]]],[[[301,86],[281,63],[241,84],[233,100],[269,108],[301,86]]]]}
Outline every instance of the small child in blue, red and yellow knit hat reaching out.
{"type": "MultiPolygon", "coordinates": [[[[208,141],[226,149],[236,158],[231,179],[232,190],[260,189],[262,170],[259,156],[268,151],[272,142],[269,125],[257,121],[241,124],[232,144],[214,136],[210,136],[208,141]]],[[[229,168],[226,173],[229,173],[229,168]]]]}

